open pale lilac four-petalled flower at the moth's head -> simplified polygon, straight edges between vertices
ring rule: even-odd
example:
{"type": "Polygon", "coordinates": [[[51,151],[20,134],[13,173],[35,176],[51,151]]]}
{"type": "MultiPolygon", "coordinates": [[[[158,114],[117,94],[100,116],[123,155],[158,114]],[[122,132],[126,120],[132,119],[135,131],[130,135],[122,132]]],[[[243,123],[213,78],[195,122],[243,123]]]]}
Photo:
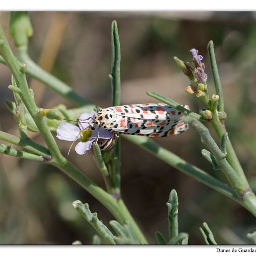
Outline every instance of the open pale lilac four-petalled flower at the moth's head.
{"type": "Polygon", "coordinates": [[[95,140],[110,139],[112,136],[111,132],[103,128],[94,130],[89,128],[88,122],[94,117],[95,115],[92,113],[82,113],[79,117],[80,121],[78,121],[79,127],[68,122],[60,124],[57,128],[57,138],[64,141],[80,140],[74,149],[79,155],[85,154],[95,140]]]}

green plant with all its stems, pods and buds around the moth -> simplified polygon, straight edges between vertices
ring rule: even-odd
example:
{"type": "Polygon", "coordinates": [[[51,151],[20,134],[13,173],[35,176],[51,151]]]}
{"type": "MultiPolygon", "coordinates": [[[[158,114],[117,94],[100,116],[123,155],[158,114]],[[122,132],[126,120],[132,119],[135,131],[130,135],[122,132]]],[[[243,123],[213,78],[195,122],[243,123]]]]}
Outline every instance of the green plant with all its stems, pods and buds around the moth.
{"type": "MultiPolygon", "coordinates": [[[[0,131],[0,139],[17,145],[23,150],[12,148],[11,145],[1,144],[0,153],[18,156],[29,160],[35,160],[51,164],[75,182],[80,184],[91,195],[93,195],[102,205],[104,205],[115,217],[116,221],[111,221],[110,226],[115,230],[117,236],[98,219],[97,214],[92,214],[88,204],[75,201],[73,206],[82,216],[98,231],[98,233],[110,244],[147,244],[147,240],[135,220],[129,213],[121,198],[120,187],[120,140],[117,141],[112,152],[101,152],[99,146],[94,144],[94,160],[101,171],[105,181],[106,190],[100,188],[87,175],[83,174],[71,162],[69,162],[60,152],[51,132],[55,132],[62,119],[76,120],[82,112],[93,112],[94,104],[76,94],[72,88],[63,83],[52,74],[40,68],[28,55],[28,38],[33,34],[33,28],[28,18],[27,12],[14,12],[10,20],[10,35],[16,47],[16,57],[7,42],[6,36],[0,27],[0,62],[5,63],[12,73],[12,85],[9,89],[13,91],[14,102],[7,101],[7,108],[11,111],[14,119],[18,123],[20,137],[0,131]],[[67,109],[63,105],[52,109],[39,108],[34,101],[34,92],[28,88],[26,74],[43,82],[47,87],[53,89],[66,100],[74,103],[78,108],[67,109]],[[27,130],[40,132],[47,147],[40,145],[27,135],[27,130]],[[122,224],[121,224],[122,223],[122,224]]],[[[109,75],[112,84],[112,106],[120,105],[121,78],[120,63],[121,50],[115,21],[111,25],[112,43],[112,71],[109,75]]],[[[206,108],[201,108],[199,114],[189,111],[175,101],[155,92],[148,92],[148,95],[162,101],[176,110],[182,112],[183,121],[195,129],[201,136],[202,142],[210,151],[203,149],[202,155],[212,164],[213,169],[221,170],[227,177],[229,185],[226,185],[200,168],[181,159],[148,137],[125,135],[122,136],[136,145],[144,148],[151,154],[167,162],[169,165],[192,176],[197,181],[202,182],[217,192],[228,196],[240,203],[256,216],[256,196],[249,187],[249,183],[244,175],[243,168],[236,156],[228,133],[225,129],[225,119],[227,115],[224,111],[224,100],[222,86],[218,74],[216,58],[214,54],[213,42],[208,44],[209,59],[214,77],[216,94],[209,95],[207,88],[207,74],[204,72],[202,56],[197,50],[192,49],[193,64],[183,62],[175,57],[175,61],[181,67],[183,73],[188,76],[190,86],[186,88],[189,94],[195,94],[202,99],[206,108]],[[220,146],[212,138],[208,128],[203,122],[209,122],[216,131],[220,140],[220,146]]],[[[170,193],[168,206],[169,237],[168,240],[160,232],[155,236],[159,244],[187,244],[188,234],[178,232],[177,207],[178,200],[175,190],[170,193]]],[[[205,242],[216,243],[213,235],[206,223],[200,229],[205,242]]],[[[254,241],[254,235],[248,235],[250,241],[254,241]]],[[[74,242],[79,243],[79,242],[74,242]]],[[[94,244],[101,243],[99,237],[95,236],[94,244]]]]}

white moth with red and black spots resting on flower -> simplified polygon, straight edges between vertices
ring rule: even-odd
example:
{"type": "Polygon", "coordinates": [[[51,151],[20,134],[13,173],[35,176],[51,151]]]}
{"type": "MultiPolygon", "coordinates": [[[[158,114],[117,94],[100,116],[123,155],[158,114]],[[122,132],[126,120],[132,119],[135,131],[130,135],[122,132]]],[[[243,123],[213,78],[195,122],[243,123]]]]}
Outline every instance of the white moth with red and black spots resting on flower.
{"type": "Polygon", "coordinates": [[[181,120],[178,110],[164,103],[148,103],[100,109],[89,121],[89,127],[101,127],[115,134],[165,137],[181,134],[189,125],[181,120]]]}

